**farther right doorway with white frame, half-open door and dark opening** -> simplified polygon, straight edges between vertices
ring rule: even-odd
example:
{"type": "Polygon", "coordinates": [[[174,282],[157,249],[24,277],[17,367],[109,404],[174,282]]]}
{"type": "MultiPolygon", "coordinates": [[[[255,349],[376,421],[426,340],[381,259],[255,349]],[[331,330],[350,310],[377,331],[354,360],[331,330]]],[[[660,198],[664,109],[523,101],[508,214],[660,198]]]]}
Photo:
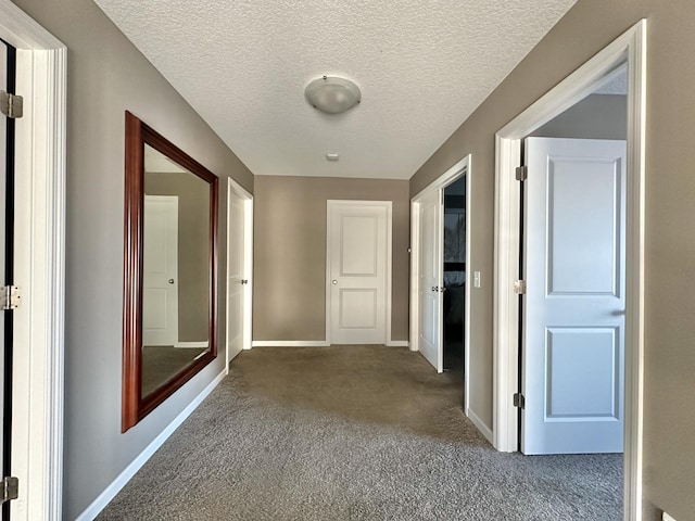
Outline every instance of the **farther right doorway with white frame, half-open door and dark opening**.
{"type": "Polygon", "coordinates": [[[467,155],[410,200],[410,350],[438,372],[462,371],[469,417],[470,163],[467,155]]]}

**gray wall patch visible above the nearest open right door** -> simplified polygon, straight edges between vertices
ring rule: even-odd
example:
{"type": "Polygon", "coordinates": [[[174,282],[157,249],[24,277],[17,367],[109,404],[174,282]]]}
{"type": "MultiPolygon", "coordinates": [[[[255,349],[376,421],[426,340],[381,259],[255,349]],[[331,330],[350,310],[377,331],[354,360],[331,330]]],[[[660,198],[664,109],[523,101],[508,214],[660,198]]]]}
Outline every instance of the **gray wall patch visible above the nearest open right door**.
{"type": "Polygon", "coordinates": [[[591,94],[554,117],[531,136],[543,138],[626,139],[628,97],[591,94]]]}

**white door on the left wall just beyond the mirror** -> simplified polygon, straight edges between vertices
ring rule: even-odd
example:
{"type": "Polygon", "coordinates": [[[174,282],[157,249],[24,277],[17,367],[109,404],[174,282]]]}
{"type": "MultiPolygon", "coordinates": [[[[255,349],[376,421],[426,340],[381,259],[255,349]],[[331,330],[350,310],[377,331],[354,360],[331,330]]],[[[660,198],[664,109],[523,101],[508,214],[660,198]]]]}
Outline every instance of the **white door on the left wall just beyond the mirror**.
{"type": "Polygon", "coordinates": [[[243,350],[244,291],[244,200],[229,190],[227,257],[227,356],[231,360],[243,350]]]}

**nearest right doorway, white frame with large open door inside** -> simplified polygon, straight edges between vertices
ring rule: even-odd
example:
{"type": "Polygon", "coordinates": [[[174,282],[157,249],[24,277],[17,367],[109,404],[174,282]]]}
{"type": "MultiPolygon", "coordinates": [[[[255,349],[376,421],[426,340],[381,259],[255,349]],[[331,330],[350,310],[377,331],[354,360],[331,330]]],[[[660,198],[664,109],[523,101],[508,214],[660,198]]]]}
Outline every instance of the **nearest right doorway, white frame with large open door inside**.
{"type": "Polygon", "coordinates": [[[580,454],[576,458],[614,453],[609,470],[617,476],[615,503],[624,519],[640,511],[642,480],[645,39],[642,21],[501,129],[496,143],[495,447],[580,454]],[[622,144],[622,152],[590,160],[584,168],[576,151],[544,150],[541,161],[531,158],[541,141],[552,142],[551,149],[558,142],[612,142],[622,144]],[[592,170],[597,164],[603,173],[592,170]],[[541,185],[535,196],[528,183],[532,177],[541,185]],[[594,247],[596,241],[603,246],[594,247]],[[531,250],[540,256],[531,258],[531,250]],[[596,257],[606,263],[596,264],[596,257]],[[531,297],[532,292],[541,297],[531,297]],[[606,320],[594,316],[598,304],[590,306],[591,320],[581,323],[553,315],[569,301],[596,297],[615,301],[614,308],[602,312],[606,320]],[[553,298],[557,302],[547,305],[553,298]],[[553,314],[540,313],[543,308],[553,314]],[[533,340],[530,330],[538,329],[536,321],[540,334],[533,340]],[[539,345],[531,347],[533,343],[539,345]],[[529,430],[533,422],[541,425],[535,434],[529,430]],[[564,434],[546,436],[545,429],[563,423],[568,427],[564,434]],[[582,432],[599,424],[616,428],[612,445],[604,443],[605,433],[582,432]],[[596,446],[548,442],[553,446],[547,450],[528,449],[529,436],[541,444],[553,436],[570,444],[589,439],[596,446]]]}

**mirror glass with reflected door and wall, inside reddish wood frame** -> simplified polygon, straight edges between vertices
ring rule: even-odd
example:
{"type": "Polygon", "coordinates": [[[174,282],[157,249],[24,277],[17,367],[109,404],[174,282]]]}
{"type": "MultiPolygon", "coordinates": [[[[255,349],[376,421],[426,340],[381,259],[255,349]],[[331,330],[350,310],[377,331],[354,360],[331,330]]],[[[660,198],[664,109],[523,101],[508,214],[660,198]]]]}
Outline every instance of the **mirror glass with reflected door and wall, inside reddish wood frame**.
{"type": "Polygon", "coordinates": [[[144,145],[142,397],[207,351],[210,187],[144,145]]]}

